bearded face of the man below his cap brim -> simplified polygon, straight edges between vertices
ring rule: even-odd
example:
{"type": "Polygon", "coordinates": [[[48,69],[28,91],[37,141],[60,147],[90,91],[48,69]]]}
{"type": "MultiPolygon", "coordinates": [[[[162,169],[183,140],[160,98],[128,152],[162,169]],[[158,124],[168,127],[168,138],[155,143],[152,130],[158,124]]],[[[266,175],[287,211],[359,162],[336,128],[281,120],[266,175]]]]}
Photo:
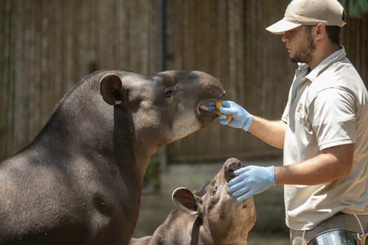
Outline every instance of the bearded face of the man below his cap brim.
{"type": "Polygon", "coordinates": [[[300,26],[284,33],[282,41],[286,43],[291,62],[309,64],[312,61],[315,45],[311,30],[300,26]]]}

